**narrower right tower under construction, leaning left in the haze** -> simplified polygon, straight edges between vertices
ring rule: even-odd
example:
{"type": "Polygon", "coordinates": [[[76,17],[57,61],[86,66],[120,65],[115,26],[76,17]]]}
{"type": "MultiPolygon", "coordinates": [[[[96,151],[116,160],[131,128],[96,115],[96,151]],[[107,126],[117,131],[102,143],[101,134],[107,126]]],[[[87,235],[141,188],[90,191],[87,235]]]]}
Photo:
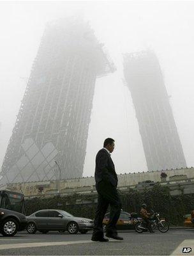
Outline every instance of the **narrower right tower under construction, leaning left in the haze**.
{"type": "Polygon", "coordinates": [[[154,52],[126,54],[124,77],[135,106],[148,170],[185,167],[183,148],[154,52]]]}

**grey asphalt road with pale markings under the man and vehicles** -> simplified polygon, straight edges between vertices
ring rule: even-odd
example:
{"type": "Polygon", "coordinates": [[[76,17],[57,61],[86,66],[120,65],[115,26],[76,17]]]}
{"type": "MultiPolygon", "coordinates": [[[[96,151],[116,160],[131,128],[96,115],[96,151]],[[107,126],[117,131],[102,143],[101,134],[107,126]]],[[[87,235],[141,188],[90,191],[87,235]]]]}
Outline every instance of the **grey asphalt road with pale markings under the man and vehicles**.
{"type": "Polygon", "coordinates": [[[123,241],[109,239],[107,243],[91,241],[91,232],[71,235],[67,232],[27,234],[14,237],[0,236],[0,255],[185,255],[183,247],[191,247],[194,255],[194,229],[158,230],[154,234],[121,231],[123,241]]]}

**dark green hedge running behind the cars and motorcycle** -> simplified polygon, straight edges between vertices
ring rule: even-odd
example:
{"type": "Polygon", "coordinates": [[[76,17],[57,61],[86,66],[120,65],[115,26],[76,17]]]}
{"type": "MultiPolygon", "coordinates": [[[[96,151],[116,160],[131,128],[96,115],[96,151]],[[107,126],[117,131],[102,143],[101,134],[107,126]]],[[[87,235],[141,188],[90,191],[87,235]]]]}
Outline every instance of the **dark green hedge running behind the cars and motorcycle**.
{"type": "MultiPolygon", "coordinates": [[[[194,195],[171,196],[170,189],[156,184],[152,189],[136,191],[131,189],[128,193],[119,191],[123,210],[139,212],[140,205],[145,202],[148,209],[159,212],[171,225],[183,225],[183,215],[190,214],[194,209],[194,195]]],[[[26,215],[40,209],[63,209],[75,216],[94,218],[96,195],[72,194],[70,196],[53,196],[52,198],[33,198],[26,200],[26,215]],[[80,204],[75,204],[76,200],[80,204]],[[86,204],[86,200],[91,202],[86,204]]]]}

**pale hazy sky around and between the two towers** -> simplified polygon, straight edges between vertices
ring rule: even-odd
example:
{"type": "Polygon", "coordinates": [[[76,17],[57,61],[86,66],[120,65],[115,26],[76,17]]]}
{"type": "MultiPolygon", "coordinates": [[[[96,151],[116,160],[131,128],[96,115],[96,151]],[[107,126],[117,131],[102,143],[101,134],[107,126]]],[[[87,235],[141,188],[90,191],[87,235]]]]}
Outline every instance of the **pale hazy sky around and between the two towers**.
{"type": "Polygon", "coordinates": [[[45,24],[70,15],[90,21],[117,67],[96,81],[84,176],[94,175],[96,152],[107,137],[116,140],[117,173],[147,170],[122,57],[146,49],[158,56],[186,163],[194,166],[193,13],[193,1],[1,1],[0,166],[45,24]]]}

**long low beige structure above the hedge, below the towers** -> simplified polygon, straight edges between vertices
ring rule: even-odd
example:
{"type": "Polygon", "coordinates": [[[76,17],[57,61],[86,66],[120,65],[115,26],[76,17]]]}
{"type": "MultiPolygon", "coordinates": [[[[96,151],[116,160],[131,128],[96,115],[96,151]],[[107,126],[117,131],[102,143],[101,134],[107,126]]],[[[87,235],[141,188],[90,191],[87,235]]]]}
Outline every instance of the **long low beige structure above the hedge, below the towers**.
{"type": "MultiPolygon", "coordinates": [[[[194,193],[194,168],[125,173],[118,175],[118,188],[121,191],[127,191],[129,188],[142,189],[145,186],[151,188],[155,182],[161,182],[161,185],[163,186],[166,185],[174,188],[177,186],[177,183],[183,184],[185,191],[194,193]],[[161,182],[161,172],[167,174],[167,178],[163,182],[161,182]]],[[[24,193],[26,197],[54,195],[59,192],[61,195],[66,195],[69,193],[93,193],[96,191],[94,177],[63,179],[60,181],[60,186],[58,180],[47,180],[7,184],[1,189],[19,191],[24,193]]]]}

